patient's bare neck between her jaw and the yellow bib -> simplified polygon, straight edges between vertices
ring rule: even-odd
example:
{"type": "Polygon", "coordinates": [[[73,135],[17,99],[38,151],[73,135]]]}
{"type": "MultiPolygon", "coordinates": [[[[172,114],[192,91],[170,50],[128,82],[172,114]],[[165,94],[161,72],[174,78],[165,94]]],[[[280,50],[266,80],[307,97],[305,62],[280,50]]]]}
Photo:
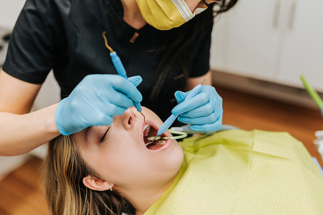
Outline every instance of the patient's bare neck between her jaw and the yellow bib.
{"type": "Polygon", "coordinates": [[[177,175],[163,184],[155,184],[146,188],[145,186],[140,186],[139,188],[134,186],[128,190],[122,189],[122,192],[127,193],[124,197],[135,207],[136,215],[142,215],[171,186],[176,177],[177,175]]]}

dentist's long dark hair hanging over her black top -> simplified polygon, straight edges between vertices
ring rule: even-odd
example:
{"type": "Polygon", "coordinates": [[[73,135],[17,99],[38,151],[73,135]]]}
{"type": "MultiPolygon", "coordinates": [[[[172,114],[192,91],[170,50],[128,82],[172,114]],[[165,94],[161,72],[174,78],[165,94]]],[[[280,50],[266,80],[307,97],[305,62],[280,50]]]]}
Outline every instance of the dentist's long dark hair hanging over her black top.
{"type": "Polygon", "coordinates": [[[165,43],[156,51],[156,57],[160,60],[159,64],[156,65],[153,81],[155,85],[151,90],[150,100],[156,98],[160,93],[161,87],[175,62],[179,62],[184,78],[188,78],[187,53],[189,53],[190,44],[201,32],[213,26],[215,16],[228,11],[237,1],[222,0],[212,3],[204,12],[196,15],[182,26],[167,31],[165,43]]]}

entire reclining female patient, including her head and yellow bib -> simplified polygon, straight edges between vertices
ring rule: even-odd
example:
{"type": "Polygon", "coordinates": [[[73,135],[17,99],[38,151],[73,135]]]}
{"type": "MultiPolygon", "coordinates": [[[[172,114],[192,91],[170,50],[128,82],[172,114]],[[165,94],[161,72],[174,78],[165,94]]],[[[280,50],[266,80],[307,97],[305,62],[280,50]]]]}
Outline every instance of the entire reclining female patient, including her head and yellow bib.
{"type": "Polygon", "coordinates": [[[223,131],[187,138],[181,146],[171,139],[145,146],[162,121],[148,108],[143,112],[150,126],[129,108],[111,126],[89,127],[49,143],[45,185],[52,214],[323,211],[319,171],[286,133],[268,138],[257,130],[223,131]],[[281,149],[288,149],[287,156],[281,149]]]}

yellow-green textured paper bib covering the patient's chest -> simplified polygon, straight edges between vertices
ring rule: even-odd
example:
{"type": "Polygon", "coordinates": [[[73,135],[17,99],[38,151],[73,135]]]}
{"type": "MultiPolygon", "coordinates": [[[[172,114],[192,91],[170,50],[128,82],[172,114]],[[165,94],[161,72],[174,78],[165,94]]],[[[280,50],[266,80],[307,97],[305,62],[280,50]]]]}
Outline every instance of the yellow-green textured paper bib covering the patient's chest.
{"type": "Polygon", "coordinates": [[[184,160],[147,214],[323,214],[323,179],[286,132],[229,130],[180,142],[184,160]]]}

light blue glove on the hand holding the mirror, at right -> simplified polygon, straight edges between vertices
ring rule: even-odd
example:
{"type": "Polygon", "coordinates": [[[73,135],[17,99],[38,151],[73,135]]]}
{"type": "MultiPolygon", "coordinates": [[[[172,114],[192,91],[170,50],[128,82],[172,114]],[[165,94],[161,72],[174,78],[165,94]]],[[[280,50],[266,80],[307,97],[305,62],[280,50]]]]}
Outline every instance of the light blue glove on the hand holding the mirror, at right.
{"type": "Polygon", "coordinates": [[[172,113],[179,115],[178,121],[193,124],[191,129],[196,131],[220,130],[223,116],[222,98],[215,88],[203,85],[199,94],[184,101],[188,93],[189,91],[175,92],[175,98],[179,104],[172,109],[172,113]]]}

